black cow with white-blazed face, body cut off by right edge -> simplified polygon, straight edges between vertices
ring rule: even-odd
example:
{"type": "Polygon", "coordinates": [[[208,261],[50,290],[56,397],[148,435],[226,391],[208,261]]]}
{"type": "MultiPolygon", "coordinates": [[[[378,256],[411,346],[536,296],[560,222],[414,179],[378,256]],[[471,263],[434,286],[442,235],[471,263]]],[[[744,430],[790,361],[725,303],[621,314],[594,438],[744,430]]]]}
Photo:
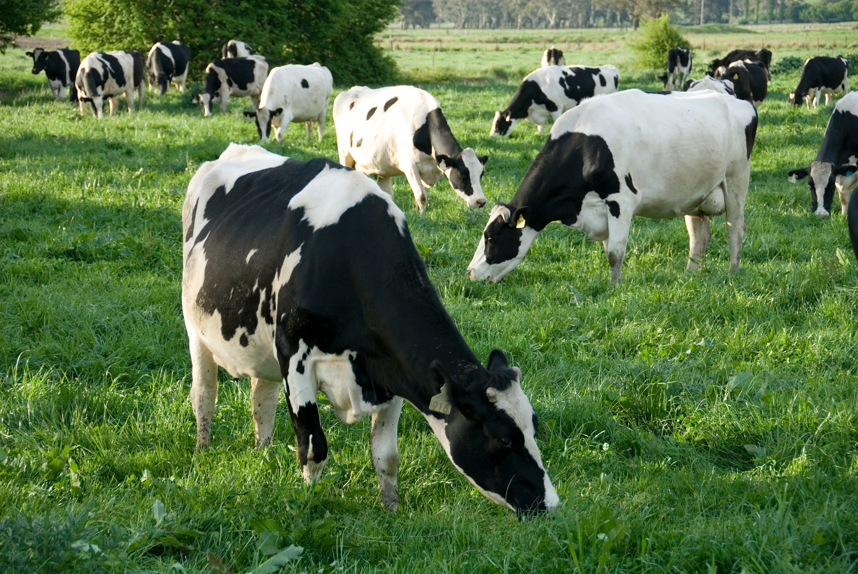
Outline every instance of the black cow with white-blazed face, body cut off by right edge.
{"type": "Polygon", "coordinates": [[[843,96],[828,120],[822,145],[807,167],[789,172],[789,181],[807,177],[813,213],[831,215],[834,190],[840,198],[840,212],[846,215],[850,189],[858,181],[858,93],[843,96]]]}

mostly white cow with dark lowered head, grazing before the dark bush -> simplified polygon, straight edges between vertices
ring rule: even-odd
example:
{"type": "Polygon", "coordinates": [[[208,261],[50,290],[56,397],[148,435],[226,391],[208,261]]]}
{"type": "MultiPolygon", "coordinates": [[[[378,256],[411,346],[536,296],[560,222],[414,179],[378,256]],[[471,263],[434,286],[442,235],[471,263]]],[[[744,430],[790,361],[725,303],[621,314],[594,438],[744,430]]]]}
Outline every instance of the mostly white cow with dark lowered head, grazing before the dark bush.
{"type": "Polygon", "coordinates": [[[328,113],[334,78],[320,63],[310,66],[288,64],[271,70],[263,85],[259,109],[245,111],[245,117],[255,120],[259,139],[269,141],[271,126],[277,141],[289,128],[289,123],[305,123],[307,141],[313,122],[318,123],[319,141],[324,135],[324,117],[328,113]]]}

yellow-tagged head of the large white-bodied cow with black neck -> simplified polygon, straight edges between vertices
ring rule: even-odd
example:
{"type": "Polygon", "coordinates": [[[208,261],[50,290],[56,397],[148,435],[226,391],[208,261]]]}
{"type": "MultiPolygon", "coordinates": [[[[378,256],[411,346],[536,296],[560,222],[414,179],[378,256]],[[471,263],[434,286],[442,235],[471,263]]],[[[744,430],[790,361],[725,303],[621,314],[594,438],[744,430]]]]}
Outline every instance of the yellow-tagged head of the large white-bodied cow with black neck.
{"type": "Polygon", "coordinates": [[[528,207],[515,211],[504,203],[492,207],[480,245],[468,265],[472,281],[497,283],[516,268],[539,233],[528,224],[528,215],[528,207]]]}

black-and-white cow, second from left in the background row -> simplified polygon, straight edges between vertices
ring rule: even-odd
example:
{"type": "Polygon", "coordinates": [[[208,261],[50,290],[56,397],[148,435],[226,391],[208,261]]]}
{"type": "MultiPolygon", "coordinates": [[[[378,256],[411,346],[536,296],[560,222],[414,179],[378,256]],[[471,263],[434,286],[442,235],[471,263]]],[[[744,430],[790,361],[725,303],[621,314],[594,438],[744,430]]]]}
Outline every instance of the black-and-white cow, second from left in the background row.
{"type": "Polygon", "coordinates": [[[143,81],[145,63],[136,50],[92,52],[77,69],[75,87],[81,105],[81,115],[89,104],[95,117],[104,117],[104,100],[110,100],[110,115],[116,114],[119,96],[125,94],[128,113],[134,113],[134,91],[143,105],[146,84],[143,81]]]}

